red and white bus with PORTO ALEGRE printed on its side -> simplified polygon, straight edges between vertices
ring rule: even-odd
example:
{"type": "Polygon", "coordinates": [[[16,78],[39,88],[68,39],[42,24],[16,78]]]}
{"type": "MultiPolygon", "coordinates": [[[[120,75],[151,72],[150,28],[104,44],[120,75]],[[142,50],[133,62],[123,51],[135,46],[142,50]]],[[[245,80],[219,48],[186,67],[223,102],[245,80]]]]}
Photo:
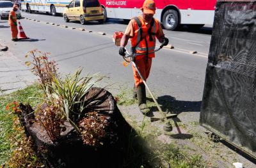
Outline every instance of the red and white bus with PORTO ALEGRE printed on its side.
{"type": "MultiPolygon", "coordinates": [[[[145,0],[99,0],[107,18],[131,19],[140,15],[145,0]]],[[[198,29],[213,24],[216,0],[155,0],[156,14],[163,27],[175,30],[181,24],[198,29]]]]}

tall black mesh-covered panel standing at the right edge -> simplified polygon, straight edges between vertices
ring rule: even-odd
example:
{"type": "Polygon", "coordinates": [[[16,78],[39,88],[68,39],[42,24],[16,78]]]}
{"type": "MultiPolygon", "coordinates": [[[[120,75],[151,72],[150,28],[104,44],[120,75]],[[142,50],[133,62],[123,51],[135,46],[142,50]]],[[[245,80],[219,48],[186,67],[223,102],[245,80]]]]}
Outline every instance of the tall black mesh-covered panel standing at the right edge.
{"type": "Polygon", "coordinates": [[[256,158],[256,2],[218,1],[200,124],[256,158]]]}

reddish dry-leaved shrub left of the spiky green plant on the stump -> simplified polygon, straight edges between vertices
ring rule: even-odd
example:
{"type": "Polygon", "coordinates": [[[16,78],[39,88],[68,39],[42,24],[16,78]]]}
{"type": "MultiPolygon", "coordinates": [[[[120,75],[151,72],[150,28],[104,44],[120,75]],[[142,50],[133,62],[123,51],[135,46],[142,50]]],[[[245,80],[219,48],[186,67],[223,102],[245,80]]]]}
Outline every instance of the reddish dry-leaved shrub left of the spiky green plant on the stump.
{"type": "Polygon", "coordinates": [[[44,126],[52,142],[58,141],[63,129],[63,113],[61,113],[60,99],[52,97],[50,87],[54,78],[58,78],[56,62],[48,59],[50,53],[31,50],[25,57],[31,57],[32,61],[26,62],[26,66],[32,66],[31,71],[39,77],[40,87],[45,93],[44,108],[40,106],[36,111],[36,119],[44,126]],[[62,129],[61,129],[62,128],[62,129]]]}

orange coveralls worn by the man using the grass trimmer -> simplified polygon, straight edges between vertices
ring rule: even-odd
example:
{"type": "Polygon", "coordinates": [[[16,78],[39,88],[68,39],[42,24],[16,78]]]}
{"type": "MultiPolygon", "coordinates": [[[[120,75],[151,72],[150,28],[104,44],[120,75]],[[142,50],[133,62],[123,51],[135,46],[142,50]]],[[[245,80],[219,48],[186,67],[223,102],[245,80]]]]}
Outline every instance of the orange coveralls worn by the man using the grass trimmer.
{"type": "MultiPolygon", "coordinates": [[[[143,37],[147,36],[147,34],[148,34],[147,30],[150,27],[150,23],[145,22],[145,20],[143,20],[143,17],[141,17],[141,16],[138,18],[140,19],[141,27],[143,28],[142,36],[143,37]]],[[[155,19],[155,24],[157,27],[157,29],[155,30],[156,38],[157,39],[162,38],[164,36],[164,33],[163,33],[163,29],[161,27],[161,24],[156,19],[155,19]]],[[[153,29],[152,29],[152,31],[153,31],[153,29]]],[[[129,22],[124,34],[127,36],[131,36],[132,43],[133,44],[136,43],[136,39],[137,39],[137,35],[138,35],[138,25],[136,24],[136,21],[134,19],[132,19],[129,22]]],[[[141,43],[143,45],[143,43],[145,43],[145,40],[141,41],[141,43]]],[[[141,45],[141,43],[140,43],[140,45],[141,45]]],[[[148,43],[150,43],[150,42],[148,42],[148,43]]],[[[138,45],[138,46],[140,46],[140,45],[138,45]]],[[[156,46],[156,39],[154,39],[153,46],[154,47],[156,46]]],[[[149,45],[148,48],[152,48],[152,46],[149,45]]],[[[151,65],[152,65],[152,58],[154,58],[154,57],[155,57],[155,53],[150,53],[150,54],[148,54],[148,57],[146,55],[136,56],[136,59],[134,61],[145,81],[147,80],[147,78],[149,76],[151,65]]],[[[141,80],[140,75],[138,74],[138,72],[136,71],[134,66],[132,66],[132,71],[133,71],[135,86],[138,87],[141,83],[143,83],[143,81],[141,80]]]]}

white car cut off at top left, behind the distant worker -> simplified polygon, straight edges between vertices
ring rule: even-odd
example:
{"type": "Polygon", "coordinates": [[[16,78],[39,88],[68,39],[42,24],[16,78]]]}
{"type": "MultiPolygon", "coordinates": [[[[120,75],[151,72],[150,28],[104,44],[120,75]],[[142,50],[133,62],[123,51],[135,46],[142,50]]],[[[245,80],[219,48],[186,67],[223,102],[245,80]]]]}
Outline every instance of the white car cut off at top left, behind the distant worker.
{"type": "MultiPolygon", "coordinates": [[[[8,18],[10,10],[13,8],[13,3],[11,1],[0,1],[0,17],[1,19],[8,18]]],[[[16,17],[21,18],[20,10],[15,11],[16,17]]]]}

